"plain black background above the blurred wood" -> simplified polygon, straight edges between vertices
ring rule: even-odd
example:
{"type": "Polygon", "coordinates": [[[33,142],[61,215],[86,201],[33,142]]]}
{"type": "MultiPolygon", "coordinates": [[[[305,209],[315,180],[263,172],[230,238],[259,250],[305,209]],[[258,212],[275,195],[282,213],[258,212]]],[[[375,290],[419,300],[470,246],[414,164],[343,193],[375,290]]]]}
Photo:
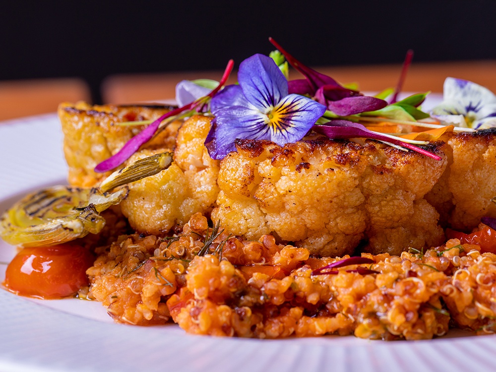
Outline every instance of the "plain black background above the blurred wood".
{"type": "Polygon", "coordinates": [[[496,59],[496,0],[9,1],[0,81],[82,77],[94,103],[116,73],[222,70],[272,36],[306,64],[496,59]]]}

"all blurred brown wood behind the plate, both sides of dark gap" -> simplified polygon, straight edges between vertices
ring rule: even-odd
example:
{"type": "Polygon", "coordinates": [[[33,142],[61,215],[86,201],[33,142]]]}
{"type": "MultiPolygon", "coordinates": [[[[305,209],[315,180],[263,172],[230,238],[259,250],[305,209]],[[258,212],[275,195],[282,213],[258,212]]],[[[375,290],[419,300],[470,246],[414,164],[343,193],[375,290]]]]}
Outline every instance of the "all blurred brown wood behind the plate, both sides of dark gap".
{"type": "MultiPolygon", "coordinates": [[[[341,83],[358,83],[362,91],[376,92],[395,87],[401,64],[315,67],[341,83]]],[[[159,101],[175,97],[176,84],[183,80],[219,80],[222,71],[124,74],[107,77],[101,85],[105,103],[125,104],[159,101]]],[[[447,76],[484,85],[496,92],[496,61],[413,63],[403,86],[405,92],[442,92],[447,76]]],[[[302,76],[292,70],[290,79],[302,76]]],[[[236,72],[229,83],[237,80],[236,72]]],[[[55,112],[60,102],[90,101],[88,85],[81,79],[0,81],[0,120],[55,112]]]]}

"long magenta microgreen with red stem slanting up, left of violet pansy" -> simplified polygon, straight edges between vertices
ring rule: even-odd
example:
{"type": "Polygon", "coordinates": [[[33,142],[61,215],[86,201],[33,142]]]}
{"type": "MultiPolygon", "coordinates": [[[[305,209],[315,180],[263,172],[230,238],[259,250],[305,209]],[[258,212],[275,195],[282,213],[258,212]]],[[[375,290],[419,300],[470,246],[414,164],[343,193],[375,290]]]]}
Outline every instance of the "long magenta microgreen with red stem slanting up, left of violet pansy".
{"type": "Polygon", "coordinates": [[[162,115],[160,118],[155,120],[153,123],[148,125],[145,129],[143,129],[141,132],[139,132],[137,135],[132,137],[129,141],[127,141],[124,146],[119,150],[118,153],[115,155],[111,156],[109,159],[104,160],[100,164],[98,164],[95,167],[95,172],[103,173],[110,171],[114,168],[119,167],[121,164],[123,164],[127,159],[131,157],[132,154],[134,154],[144,143],[148,142],[159,126],[169,118],[174,118],[177,115],[180,115],[184,113],[185,111],[190,111],[194,112],[196,109],[201,109],[203,105],[211,99],[217,92],[224,86],[226,83],[227,79],[229,78],[229,75],[231,74],[231,71],[233,70],[234,67],[234,61],[230,60],[227,64],[227,67],[224,71],[224,74],[222,75],[222,79],[219,83],[219,85],[213,89],[209,94],[207,94],[205,97],[202,97],[196,101],[193,101],[191,103],[188,103],[187,105],[184,105],[182,107],[179,107],[177,109],[174,109],[172,111],[169,111],[167,114],[162,115]]]}

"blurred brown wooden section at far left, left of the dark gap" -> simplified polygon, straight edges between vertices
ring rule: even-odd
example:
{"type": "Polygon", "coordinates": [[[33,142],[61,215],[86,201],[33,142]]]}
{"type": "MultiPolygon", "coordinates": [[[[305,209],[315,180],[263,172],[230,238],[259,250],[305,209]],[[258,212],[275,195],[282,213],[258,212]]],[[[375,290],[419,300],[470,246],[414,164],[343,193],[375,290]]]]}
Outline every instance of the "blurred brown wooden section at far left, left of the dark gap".
{"type": "Polygon", "coordinates": [[[78,78],[0,81],[0,120],[56,112],[61,102],[91,101],[78,78]]]}

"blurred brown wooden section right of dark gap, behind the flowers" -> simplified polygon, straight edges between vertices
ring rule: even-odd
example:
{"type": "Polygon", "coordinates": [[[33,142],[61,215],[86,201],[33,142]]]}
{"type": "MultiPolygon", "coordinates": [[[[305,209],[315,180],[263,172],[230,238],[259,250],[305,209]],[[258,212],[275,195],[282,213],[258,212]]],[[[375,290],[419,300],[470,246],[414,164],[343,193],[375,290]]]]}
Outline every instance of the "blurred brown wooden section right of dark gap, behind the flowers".
{"type": "MultiPolygon", "coordinates": [[[[316,67],[341,83],[358,83],[361,91],[378,92],[394,88],[401,73],[401,64],[316,67]]],[[[233,71],[228,83],[237,80],[233,71]]],[[[108,76],[102,83],[105,103],[126,104],[158,101],[176,96],[176,84],[181,80],[219,80],[222,71],[186,71],[156,74],[122,74],[108,76]]],[[[470,80],[496,92],[496,61],[413,63],[403,86],[405,92],[442,92],[448,76],[470,80]]],[[[297,71],[290,71],[290,79],[303,78],[297,71]]]]}

